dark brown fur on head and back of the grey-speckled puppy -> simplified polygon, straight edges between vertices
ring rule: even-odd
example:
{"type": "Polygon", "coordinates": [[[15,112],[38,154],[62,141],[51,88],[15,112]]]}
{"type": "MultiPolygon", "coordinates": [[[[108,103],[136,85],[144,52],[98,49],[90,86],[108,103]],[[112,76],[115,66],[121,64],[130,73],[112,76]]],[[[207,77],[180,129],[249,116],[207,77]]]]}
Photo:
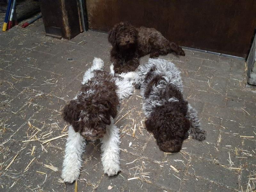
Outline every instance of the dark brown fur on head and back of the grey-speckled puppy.
{"type": "MultiPolygon", "coordinates": [[[[159,76],[154,77],[145,90],[145,98],[149,97],[148,91],[160,81],[159,76]]],[[[175,97],[178,101],[165,102],[156,107],[145,121],[146,129],[154,134],[158,147],[164,152],[179,152],[182,142],[188,139],[190,121],[186,118],[188,101],[183,99],[182,93],[172,84],[161,93],[160,100],[175,97]]]]}

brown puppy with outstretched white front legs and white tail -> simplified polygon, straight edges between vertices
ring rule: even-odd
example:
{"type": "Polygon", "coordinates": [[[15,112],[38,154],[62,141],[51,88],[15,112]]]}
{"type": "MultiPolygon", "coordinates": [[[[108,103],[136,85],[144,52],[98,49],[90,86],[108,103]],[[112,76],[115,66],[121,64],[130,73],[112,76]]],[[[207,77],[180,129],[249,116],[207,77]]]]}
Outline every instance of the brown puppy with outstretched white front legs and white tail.
{"type": "Polygon", "coordinates": [[[102,71],[103,65],[101,59],[93,60],[84,74],[81,90],[63,109],[63,118],[70,124],[61,175],[64,182],[72,183],[79,177],[85,140],[101,140],[104,173],[113,176],[120,171],[119,130],[113,118],[119,100],[132,94],[135,75],[114,75],[113,66],[108,73],[102,71]]]}

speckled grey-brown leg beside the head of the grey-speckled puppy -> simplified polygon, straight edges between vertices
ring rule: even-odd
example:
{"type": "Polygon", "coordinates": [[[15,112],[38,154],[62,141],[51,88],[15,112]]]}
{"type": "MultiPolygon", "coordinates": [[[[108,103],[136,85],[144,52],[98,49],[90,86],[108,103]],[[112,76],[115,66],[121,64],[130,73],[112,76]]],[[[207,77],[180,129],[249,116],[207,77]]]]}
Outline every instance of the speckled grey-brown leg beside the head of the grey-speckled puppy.
{"type": "Polygon", "coordinates": [[[189,133],[189,135],[192,136],[192,139],[195,139],[198,141],[205,140],[206,132],[205,132],[205,130],[200,128],[200,122],[197,117],[197,112],[194,108],[191,107],[190,104],[188,104],[187,118],[191,122],[191,126],[190,126],[188,133],[189,133]]]}

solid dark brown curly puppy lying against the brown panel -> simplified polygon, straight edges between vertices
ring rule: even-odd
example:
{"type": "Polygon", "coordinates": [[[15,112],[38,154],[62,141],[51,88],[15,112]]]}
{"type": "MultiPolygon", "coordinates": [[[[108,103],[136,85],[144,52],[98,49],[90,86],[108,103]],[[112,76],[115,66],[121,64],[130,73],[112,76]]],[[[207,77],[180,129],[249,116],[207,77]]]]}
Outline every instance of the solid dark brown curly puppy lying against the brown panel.
{"type": "Polygon", "coordinates": [[[108,41],[113,46],[110,60],[116,73],[134,71],[140,65],[139,58],[148,54],[150,58],[171,52],[185,56],[180,46],[169,42],[156,29],[135,28],[128,22],[116,24],[108,32],[108,41]]]}

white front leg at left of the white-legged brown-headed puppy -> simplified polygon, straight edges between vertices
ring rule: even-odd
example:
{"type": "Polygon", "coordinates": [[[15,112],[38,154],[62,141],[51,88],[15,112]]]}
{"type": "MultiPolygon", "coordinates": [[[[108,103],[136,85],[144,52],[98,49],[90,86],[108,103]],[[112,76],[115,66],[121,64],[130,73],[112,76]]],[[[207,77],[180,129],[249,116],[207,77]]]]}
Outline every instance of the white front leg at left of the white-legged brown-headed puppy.
{"type": "Polygon", "coordinates": [[[82,154],[86,142],[80,133],[75,132],[73,127],[69,125],[68,139],[65,148],[65,157],[63,161],[63,169],[61,177],[64,182],[72,183],[77,180],[82,167],[82,154]]]}

